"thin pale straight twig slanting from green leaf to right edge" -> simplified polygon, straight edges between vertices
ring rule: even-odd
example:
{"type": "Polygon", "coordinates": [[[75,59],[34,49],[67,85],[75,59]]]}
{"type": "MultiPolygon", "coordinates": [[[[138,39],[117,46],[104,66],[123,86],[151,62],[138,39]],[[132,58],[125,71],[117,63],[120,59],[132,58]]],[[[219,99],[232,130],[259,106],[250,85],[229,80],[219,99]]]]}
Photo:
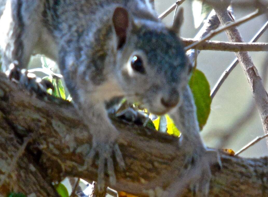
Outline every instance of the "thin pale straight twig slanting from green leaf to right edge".
{"type": "MultiPolygon", "coordinates": [[[[262,28],[260,28],[260,30],[250,40],[250,43],[256,42],[260,38],[260,36],[266,31],[267,28],[268,28],[268,21],[262,26],[262,28]]],[[[210,93],[211,99],[214,98],[215,94],[218,92],[219,88],[224,83],[225,79],[229,76],[229,74],[232,72],[232,70],[236,67],[238,63],[239,63],[238,59],[235,58],[233,62],[230,64],[230,66],[228,66],[228,68],[222,73],[216,85],[211,90],[211,93],[210,93]]]]}

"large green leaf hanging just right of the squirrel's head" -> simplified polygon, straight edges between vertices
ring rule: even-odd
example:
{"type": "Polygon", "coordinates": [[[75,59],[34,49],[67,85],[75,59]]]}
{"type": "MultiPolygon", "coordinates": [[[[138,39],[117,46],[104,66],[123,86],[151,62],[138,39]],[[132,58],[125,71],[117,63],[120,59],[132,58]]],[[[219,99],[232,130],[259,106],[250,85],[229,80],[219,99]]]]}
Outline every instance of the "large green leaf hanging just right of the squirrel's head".
{"type": "Polygon", "coordinates": [[[211,97],[209,82],[204,73],[196,69],[189,81],[189,86],[195,100],[199,127],[202,130],[210,113],[211,97]]]}

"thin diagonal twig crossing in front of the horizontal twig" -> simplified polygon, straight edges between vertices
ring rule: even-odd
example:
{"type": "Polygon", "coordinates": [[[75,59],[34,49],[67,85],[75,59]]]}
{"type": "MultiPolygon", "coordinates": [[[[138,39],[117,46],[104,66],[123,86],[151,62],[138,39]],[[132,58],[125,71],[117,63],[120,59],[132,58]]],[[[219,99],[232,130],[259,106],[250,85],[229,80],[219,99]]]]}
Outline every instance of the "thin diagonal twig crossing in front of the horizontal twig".
{"type": "Polygon", "coordinates": [[[247,16],[237,20],[236,22],[228,22],[227,24],[225,24],[224,26],[216,29],[215,31],[211,31],[210,34],[208,34],[207,36],[205,36],[203,39],[198,40],[196,42],[194,42],[193,44],[190,44],[189,46],[185,47],[185,51],[191,49],[191,48],[196,48],[196,46],[202,44],[204,41],[211,39],[213,36],[238,25],[241,25],[244,22],[247,22],[257,16],[259,16],[260,14],[262,14],[263,12],[261,12],[260,10],[256,10],[255,12],[248,14],[247,16]]]}

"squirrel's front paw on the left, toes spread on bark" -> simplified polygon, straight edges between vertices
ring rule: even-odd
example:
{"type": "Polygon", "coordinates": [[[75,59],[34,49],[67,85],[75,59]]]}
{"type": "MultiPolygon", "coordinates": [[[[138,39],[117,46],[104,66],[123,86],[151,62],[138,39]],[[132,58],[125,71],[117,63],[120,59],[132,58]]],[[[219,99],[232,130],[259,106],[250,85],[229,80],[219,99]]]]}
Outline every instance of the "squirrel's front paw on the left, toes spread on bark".
{"type": "Polygon", "coordinates": [[[93,139],[93,146],[86,157],[86,168],[92,165],[96,155],[98,155],[97,187],[99,191],[104,191],[105,173],[109,175],[110,184],[114,185],[116,183],[113,157],[116,158],[120,169],[125,169],[125,162],[119,146],[115,142],[100,142],[93,139]]]}

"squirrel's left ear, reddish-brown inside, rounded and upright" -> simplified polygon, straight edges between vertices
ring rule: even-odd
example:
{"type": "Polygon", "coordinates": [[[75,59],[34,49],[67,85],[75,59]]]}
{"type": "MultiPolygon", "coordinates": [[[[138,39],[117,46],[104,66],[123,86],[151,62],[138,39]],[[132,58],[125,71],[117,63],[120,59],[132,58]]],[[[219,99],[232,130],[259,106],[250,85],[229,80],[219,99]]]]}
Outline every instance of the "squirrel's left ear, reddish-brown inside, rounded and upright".
{"type": "Polygon", "coordinates": [[[117,7],[113,14],[113,25],[118,37],[117,48],[121,48],[126,42],[126,34],[129,26],[128,11],[123,7],[117,7]]]}

